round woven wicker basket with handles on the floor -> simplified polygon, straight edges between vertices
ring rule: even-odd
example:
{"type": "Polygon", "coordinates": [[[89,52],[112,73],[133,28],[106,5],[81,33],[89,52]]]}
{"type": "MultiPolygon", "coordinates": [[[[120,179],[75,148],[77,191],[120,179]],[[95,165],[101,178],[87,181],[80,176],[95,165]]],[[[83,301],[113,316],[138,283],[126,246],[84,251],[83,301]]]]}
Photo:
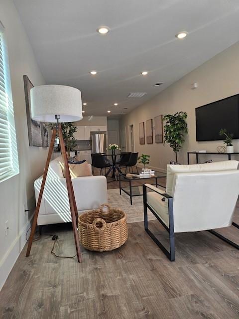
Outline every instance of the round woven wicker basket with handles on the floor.
{"type": "Polygon", "coordinates": [[[103,204],[101,208],[79,216],[78,233],[80,243],[88,250],[108,251],[119,248],[128,238],[126,215],[118,208],[103,204]]]}

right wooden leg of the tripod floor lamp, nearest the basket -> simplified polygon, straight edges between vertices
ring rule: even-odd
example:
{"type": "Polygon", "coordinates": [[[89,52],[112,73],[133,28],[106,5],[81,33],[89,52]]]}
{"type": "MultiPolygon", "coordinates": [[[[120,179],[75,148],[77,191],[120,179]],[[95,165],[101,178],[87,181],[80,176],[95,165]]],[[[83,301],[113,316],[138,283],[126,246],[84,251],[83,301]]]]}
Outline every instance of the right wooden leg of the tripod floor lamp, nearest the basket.
{"type": "Polygon", "coordinates": [[[76,199],[75,199],[75,194],[74,194],[74,190],[73,190],[73,186],[72,186],[70,169],[69,169],[69,164],[68,164],[68,160],[67,160],[67,156],[66,156],[64,139],[63,139],[60,124],[59,124],[58,134],[59,134],[59,139],[60,139],[61,154],[62,154],[62,158],[64,160],[66,186],[67,186],[69,203],[70,203],[71,220],[72,220],[72,227],[73,227],[73,233],[74,233],[74,239],[75,239],[75,245],[76,245],[77,260],[79,263],[81,263],[82,259],[81,259],[79,238],[78,238],[78,233],[77,233],[78,212],[77,212],[76,199]]]}

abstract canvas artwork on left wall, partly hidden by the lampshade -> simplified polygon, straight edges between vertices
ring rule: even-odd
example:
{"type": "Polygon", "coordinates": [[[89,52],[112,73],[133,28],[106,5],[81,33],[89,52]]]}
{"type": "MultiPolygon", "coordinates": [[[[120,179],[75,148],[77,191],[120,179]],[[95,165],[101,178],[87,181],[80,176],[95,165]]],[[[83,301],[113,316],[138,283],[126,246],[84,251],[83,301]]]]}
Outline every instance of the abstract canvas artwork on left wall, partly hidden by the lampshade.
{"type": "Polygon", "coordinates": [[[45,123],[34,121],[31,118],[31,99],[30,89],[33,88],[33,84],[29,80],[27,75],[23,75],[24,91],[26,100],[26,118],[28,127],[28,139],[29,146],[48,146],[48,131],[45,123]]]}

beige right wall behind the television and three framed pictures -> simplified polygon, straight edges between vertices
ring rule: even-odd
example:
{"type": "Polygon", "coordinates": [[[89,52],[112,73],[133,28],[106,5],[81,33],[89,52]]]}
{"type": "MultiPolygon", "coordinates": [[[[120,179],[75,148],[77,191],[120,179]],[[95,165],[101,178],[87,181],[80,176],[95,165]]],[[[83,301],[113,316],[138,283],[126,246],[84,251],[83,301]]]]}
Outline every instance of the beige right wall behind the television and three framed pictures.
{"type": "MultiPolygon", "coordinates": [[[[163,144],[139,145],[138,125],[148,119],[153,119],[160,114],[174,114],[184,111],[188,114],[188,130],[183,149],[179,153],[179,162],[187,162],[187,152],[193,150],[207,150],[216,152],[222,141],[196,142],[195,108],[207,103],[239,93],[239,42],[216,55],[182,79],[162,91],[155,98],[137,107],[120,120],[120,130],[126,127],[128,147],[128,126],[134,127],[135,151],[150,155],[150,166],[165,169],[170,160],[175,160],[175,155],[168,145],[163,144]],[[198,82],[199,87],[192,90],[191,85],[198,82]]],[[[153,140],[154,131],[153,131],[153,140]]],[[[239,151],[239,140],[234,140],[235,151],[239,151]]],[[[204,160],[226,160],[227,157],[200,156],[204,160]]],[[[239,159],[239,157],[238,157],[239,159]]]]}

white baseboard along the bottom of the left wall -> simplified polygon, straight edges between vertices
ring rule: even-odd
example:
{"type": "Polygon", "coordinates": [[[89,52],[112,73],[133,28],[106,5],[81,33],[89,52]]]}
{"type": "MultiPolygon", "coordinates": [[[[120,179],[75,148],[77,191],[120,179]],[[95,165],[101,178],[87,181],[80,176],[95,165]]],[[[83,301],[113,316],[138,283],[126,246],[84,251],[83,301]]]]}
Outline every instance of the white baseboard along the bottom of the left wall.
{"type": "Polygon", "coordinates": [[[3,258],[0,261],[0,290],[3,287],[12,267],[14,266],[20,252],[22,251],[23,247],[26,243],[26,230],[31,226],[30,221],[33,215],[31,216],[30,220],[22,227],[18,236],[12,242],[9,249],[4,254],[3,258]]]}

